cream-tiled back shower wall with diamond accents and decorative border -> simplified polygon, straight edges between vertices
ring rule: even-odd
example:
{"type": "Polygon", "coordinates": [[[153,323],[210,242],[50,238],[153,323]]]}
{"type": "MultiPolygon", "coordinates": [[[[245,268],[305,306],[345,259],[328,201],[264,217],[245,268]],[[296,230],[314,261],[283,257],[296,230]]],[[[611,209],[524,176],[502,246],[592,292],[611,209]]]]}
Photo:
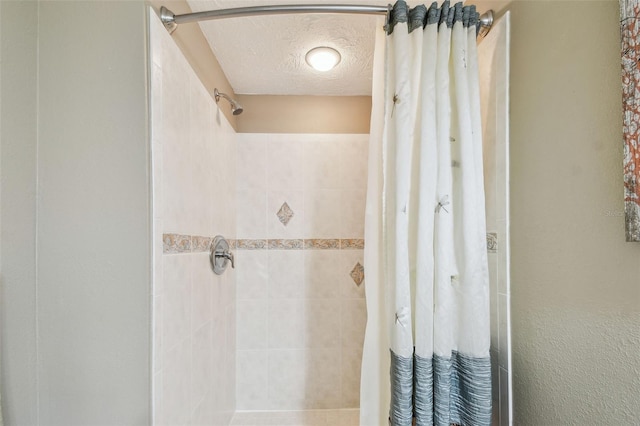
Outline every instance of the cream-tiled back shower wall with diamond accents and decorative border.
{"type": "Polygon", "coordinates": [[[238,135],[239,410],[359,405],[367,144],[238,135]]]}

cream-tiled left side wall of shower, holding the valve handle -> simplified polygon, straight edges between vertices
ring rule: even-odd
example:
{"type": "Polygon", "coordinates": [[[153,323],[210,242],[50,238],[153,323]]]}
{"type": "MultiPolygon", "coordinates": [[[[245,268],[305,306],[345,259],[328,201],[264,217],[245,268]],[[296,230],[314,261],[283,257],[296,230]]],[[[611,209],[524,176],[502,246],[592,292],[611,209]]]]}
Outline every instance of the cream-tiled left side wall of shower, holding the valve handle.
{"type": "Polygon", "coordinates": [[[226,425],[235,410],[235,272],[214,275],[206,250],[217,234],[235,238],[235,133],[154,13],[150,55],[153,423],[226,425]]]}

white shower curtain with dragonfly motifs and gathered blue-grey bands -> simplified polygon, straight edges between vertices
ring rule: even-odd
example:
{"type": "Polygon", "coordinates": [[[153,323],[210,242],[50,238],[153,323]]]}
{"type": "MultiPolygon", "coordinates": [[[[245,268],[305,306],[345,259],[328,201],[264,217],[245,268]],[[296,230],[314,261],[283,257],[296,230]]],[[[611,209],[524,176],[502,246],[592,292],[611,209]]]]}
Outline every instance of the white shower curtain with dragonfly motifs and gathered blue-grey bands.
{"type": "Polygon", "coordinates": [[[361,425],[491,423],[477,23],[398,1],[378,34],[361,425]]]}

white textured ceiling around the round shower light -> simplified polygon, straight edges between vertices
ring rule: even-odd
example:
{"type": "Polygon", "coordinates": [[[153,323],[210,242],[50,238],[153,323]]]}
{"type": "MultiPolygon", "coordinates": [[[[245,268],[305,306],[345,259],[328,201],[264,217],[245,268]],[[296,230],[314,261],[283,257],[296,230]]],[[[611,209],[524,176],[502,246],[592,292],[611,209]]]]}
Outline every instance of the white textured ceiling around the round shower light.
{"type": "MultiPolygon", "coordinates": [[[[194,12],[278,4],[388,4],[387,0],[190,0],[194,12]]],[[[370,95],[375,15],[293,14],[202,21],[200,27],[235,93],[260,95],[370,95]],[[331,71],[313,70],[306,53],[338,50],[331,71]]],[[[193,24],[183,24],[193,25],[193,24]]]]}

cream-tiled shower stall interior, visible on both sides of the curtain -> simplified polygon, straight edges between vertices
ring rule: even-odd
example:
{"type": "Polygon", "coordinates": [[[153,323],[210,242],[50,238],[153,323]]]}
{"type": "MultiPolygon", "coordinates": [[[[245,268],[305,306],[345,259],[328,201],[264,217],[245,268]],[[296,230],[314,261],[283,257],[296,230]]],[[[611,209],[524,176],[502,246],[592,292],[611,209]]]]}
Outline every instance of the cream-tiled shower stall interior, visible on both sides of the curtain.
{"type": "MultiPolygon", "coordinates": [[[[479,50],[493,413],[507,425],[508,13],[479,50]]],[[[224,111],[242,103],[245,119],[244,97],[203,84],[151,9],[149,55],[154,424],[359,424],[369,135],[238,132],[224,111]],[[216,235],[235,257],[221,275],[216,235]]]]}

